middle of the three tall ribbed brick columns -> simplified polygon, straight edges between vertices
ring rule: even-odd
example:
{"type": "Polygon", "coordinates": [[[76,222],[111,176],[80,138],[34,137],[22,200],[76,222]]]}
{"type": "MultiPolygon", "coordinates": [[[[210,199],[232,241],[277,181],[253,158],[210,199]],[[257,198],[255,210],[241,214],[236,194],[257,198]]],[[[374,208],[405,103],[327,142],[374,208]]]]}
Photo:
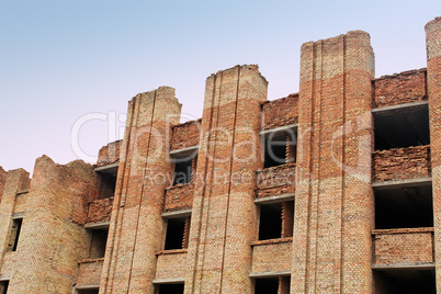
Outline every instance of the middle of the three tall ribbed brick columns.
{"type": "Polygon", "coordinates": [[[260,103],[267,89],[257,66],[236,66],[206,80],[186,294],[251,291],[260,103]]]}

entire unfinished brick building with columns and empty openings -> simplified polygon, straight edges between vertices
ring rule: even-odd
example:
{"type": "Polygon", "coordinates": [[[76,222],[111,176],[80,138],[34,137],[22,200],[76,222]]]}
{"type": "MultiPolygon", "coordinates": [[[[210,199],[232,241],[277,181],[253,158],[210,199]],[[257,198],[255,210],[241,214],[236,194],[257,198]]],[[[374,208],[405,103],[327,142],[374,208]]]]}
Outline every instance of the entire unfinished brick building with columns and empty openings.
{"type": "Polygon", "coordinates": [[[0,169],[0,293],[441,293],[441,18],[427,68],[374,78],[370,36],[301,50],[299,93],[257,66],[128,103],[95,166],[0,169]]]}

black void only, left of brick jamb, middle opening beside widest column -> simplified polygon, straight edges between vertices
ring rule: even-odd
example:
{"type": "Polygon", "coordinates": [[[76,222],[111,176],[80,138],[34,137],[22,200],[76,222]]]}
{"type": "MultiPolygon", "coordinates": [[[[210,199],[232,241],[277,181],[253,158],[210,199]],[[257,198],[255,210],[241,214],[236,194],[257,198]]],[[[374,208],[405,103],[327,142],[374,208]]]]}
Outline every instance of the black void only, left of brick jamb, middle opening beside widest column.
{"type": "Polygon", "coordinates": [[[282,203],[260,205],[259,240],[282,237],[282,203]]]}

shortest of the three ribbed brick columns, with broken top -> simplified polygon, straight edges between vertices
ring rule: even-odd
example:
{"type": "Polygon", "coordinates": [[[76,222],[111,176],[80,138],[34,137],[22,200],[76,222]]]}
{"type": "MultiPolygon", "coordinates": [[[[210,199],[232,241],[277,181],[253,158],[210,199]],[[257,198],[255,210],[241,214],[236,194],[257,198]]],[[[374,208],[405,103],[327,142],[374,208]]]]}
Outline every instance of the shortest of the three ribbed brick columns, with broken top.
{"type": "Polygon", "coordinates": [[[165,189],[172,179],[167,135],[180,121],[181,104],[173,88],[160,87],[136,95],[127,113],[100,293],[154,293],[165,189]]]}

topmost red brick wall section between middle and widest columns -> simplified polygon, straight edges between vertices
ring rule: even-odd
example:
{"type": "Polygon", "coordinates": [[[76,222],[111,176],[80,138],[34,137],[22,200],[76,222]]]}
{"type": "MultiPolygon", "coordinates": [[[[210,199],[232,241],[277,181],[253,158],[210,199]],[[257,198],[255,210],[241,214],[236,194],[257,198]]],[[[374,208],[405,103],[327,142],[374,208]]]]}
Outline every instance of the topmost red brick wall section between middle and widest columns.
{"type": "Polygon", "coordinates": [[[298,121],[298,93],[262,104],[262,128],[295,124],[298,121]]]}

